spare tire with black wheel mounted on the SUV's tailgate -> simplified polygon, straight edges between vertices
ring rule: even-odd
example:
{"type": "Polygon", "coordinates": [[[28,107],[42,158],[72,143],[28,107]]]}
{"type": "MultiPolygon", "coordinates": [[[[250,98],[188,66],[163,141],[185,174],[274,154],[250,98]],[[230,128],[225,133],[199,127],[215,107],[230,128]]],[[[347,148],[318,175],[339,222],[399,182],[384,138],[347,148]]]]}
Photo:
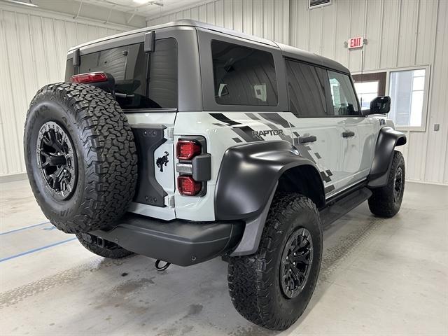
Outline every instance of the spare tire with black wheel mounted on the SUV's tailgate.
{"type": "Polygon", "coordinates": [[[25,164],[43,214],[66,233],[113,225],[137,183],[137,149],[112,95],[92,85],[44,86],[25,121],[25,164]]]}

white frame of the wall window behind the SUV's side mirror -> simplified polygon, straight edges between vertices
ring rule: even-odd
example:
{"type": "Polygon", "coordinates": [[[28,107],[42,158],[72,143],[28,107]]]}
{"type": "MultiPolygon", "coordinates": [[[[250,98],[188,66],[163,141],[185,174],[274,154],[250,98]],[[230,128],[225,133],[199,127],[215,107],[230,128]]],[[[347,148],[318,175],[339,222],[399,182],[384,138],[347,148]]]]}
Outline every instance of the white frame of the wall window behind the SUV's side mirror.
{"type": "MultiPolygon", "coordinates": [[[[398,131],[416,131],[416,132],[426,132],[426,125],[428,124],[428,110],[430,108],[429,97],[430,97],[430,77],[431,66],[430,64],[425,65],[415,65],[415,66],[403,66],[400,68],[388,68],[388,69],[377,69],[377,70],[369,70],[363,71],[363,75],[367,73],[380,73],[386,72],[386,95],[389,95],[391,90],[391,72],[400,72],[400,71],[413,71],[413,70],[425,70],[425,84],[423,87],[423,107],[421,109],[421,125],[420,126],[400,126],[395,125],[395,129],[398,131]]],[[[353,75],[360,75],[360,71],[353,72],[353,75]]],[[[393,102],[392,102],[393,104],[393,102]]]]}

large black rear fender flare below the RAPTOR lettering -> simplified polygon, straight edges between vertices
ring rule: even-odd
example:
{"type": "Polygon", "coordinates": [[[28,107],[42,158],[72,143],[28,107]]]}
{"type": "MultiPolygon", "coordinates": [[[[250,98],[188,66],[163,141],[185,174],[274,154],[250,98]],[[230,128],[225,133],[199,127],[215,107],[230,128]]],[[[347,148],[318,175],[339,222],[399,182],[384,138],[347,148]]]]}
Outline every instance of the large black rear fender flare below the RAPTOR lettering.
{"type": "MultiPolygon", "coordinates": [[[[304,166],[312,174],[313,187],[318,189],[313,201],[317,207],[323,207],[325,193],[316,164],[302,157],[287,141],[257,141],[225,152],[216,183],[215,218],[246,223],[243,237],[231,256],[257,251],[279,179],[289,169],[304,166]]],[[[310,178],[309,174],[306,178],[310,178]]]]}

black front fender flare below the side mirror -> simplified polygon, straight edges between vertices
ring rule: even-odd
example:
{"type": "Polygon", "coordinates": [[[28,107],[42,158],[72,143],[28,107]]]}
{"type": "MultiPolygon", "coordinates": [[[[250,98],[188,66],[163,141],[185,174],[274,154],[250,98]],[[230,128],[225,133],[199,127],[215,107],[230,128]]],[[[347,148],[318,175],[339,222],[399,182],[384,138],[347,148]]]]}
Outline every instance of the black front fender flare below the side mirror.
{"type": "Polygon", "coordinates": [[[406,144],[406,141],[405,134],[394,130],[392,127],[385,126],[379,130],[367,186],[377,188],[386,185],[391,169],[393,151],[395,151],[396,146],[406,144]]]}

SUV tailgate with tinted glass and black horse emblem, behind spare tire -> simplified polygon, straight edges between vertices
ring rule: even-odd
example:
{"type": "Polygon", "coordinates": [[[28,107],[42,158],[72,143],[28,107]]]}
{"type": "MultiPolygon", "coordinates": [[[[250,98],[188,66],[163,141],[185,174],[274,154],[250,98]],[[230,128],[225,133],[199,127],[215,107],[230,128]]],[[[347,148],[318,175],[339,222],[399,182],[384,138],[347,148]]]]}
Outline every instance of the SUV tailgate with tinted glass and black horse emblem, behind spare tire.
{"type": "Polygon", "coordinates": [[[116,99],[132,127],[139,156],[137,193],[130,211],[169,220],[175,218],[171,205],[178,47],[176,38],[169,34],[155,36],[152,52],[145,52],[144,34],[132,38],[129,45],[105,45],[96,52],[90,52],[95,45],[80,50],[76,73],[103,71],[115,79],[116,99]]]}

